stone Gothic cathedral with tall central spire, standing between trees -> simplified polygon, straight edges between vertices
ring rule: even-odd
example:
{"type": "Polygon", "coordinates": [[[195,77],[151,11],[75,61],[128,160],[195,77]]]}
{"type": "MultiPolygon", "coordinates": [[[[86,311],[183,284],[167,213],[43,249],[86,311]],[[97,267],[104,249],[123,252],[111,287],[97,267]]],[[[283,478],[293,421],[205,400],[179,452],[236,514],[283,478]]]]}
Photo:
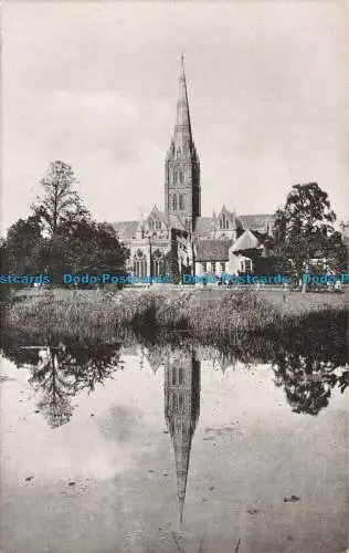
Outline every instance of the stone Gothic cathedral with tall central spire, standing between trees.
{"type": "Polygon", "coordinates": [[[216,215],[201,216],[200,159],[190,121],[183,56],[179,75],[177,117],[165,159],[165,206],[140,220],[112,223],[129,249],[131,275],[216,275],[261,269],[266,259],[264,242],[273,216],[239,216],[224,205],[216,215]]]}

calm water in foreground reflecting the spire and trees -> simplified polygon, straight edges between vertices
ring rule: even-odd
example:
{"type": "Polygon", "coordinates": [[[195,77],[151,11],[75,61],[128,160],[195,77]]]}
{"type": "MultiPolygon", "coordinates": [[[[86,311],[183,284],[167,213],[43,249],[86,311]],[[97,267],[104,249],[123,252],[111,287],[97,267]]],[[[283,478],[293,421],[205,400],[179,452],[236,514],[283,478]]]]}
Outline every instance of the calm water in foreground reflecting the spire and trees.
{"type": "Polygon", "coordinates": [[[176,342],[6,344],[2,551],[346,550],[343,342],[176,342]]]}

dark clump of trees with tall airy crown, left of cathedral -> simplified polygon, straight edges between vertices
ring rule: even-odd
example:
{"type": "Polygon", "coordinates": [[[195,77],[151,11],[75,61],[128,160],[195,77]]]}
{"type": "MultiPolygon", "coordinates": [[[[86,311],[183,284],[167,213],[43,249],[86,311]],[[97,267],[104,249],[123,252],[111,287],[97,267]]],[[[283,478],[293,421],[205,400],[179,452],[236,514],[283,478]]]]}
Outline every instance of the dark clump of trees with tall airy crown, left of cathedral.
{"type": "Polygon", "coordinates": [[[76,181],[66,163],[50,165],[33,215],[17,221],[0,243],[3,273],[45,272],[55,284],[62,284],[64,272],[125,273],[128,250],[112,226],[92,219],[74,189],[76,181]]]}

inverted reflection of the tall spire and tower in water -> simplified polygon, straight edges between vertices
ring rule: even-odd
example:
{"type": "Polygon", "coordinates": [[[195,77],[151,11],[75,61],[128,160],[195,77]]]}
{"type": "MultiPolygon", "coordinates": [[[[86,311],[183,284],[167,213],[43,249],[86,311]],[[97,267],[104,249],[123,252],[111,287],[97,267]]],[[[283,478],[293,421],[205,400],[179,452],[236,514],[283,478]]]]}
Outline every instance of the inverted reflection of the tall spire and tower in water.
{"type": "Polygon", "coordinates": [[[168,353],[165,359],[165,419],[171,436],[179,501],[179,520],[182,522],[191,442],[200,415],[201,364],[193,349],[168,353]]]}

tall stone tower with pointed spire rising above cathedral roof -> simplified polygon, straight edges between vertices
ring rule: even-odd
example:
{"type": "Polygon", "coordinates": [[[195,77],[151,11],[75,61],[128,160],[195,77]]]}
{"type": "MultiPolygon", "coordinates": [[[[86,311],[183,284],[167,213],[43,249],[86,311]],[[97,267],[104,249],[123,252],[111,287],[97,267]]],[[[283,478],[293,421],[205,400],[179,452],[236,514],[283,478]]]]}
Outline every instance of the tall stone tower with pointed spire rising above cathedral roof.
{"type": "Polygon", "coordinates": [[[192,139],[183,55],[174,133],[165,161],[165,211],[180,217],[189,231],[201,215],[200,161],[192,139]]]}

